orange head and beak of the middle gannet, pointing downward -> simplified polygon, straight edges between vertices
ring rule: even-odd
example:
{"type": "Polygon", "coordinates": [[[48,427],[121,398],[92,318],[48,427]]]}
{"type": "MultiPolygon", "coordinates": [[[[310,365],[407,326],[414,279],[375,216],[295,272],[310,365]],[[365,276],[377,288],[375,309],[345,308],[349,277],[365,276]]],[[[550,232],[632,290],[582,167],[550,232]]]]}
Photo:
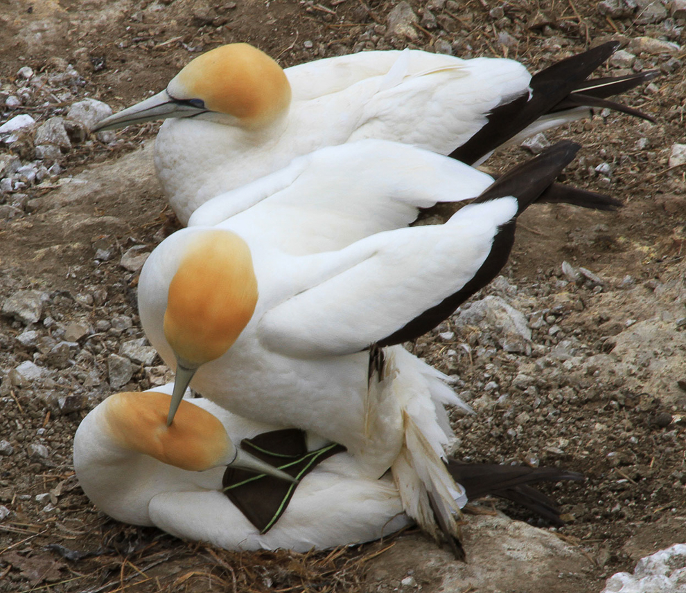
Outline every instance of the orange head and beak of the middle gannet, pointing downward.
{"type": "Polygon", "coordinates": [[[250,249],[228,230],[208,229],[190,239],[169,284],[164,336],[177,359],[168,423],[195,371],[227,352],[257,304],[250,249]]]}

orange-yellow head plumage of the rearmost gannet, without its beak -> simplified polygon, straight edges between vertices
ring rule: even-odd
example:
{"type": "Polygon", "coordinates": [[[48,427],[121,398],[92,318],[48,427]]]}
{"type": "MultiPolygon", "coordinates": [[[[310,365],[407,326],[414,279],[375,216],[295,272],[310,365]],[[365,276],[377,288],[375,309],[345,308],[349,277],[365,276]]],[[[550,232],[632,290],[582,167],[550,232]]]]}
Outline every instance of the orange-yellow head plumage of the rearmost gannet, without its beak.
{"type": "Polygon", "coordinates": [[[175,100],[202,101],[209,112],[225,113],[244,127],[279,119],[290,105],[290,84],[271,57],[248,44],[218,47],[186,64],[168,84],[175,100]]]}

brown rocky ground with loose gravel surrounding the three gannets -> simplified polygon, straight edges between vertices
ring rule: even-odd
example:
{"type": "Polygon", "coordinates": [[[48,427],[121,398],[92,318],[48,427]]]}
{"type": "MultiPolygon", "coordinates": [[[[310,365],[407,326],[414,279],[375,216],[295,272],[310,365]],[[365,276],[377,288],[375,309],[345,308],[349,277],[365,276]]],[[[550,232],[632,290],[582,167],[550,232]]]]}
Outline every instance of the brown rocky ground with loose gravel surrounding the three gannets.
{"type": "Polygon", "coordinates": [[[686,540],[683,0],[0,6],[0,591],[598,592],[686,540]],[[71,438],[108,394],[167,381],[136,284],[178,228],[152,172],[155,125],[91,136],[107,105],[137,102],[200,51],[238,40],[283,66],[411,46],[539,69],[610,38],[622,51],[608,73],[660,71],[626,98],[658,124],[601,113],[539,142],[582,143],[567,181],[624,208],[531,208],[504,274],[411,345],[477,412],[454,418],[456,455],[587,476],[549,489],[567,526],[470,517],[458,565],[417,534],[331,554],[229,554],[91,506],[71,438]]]}

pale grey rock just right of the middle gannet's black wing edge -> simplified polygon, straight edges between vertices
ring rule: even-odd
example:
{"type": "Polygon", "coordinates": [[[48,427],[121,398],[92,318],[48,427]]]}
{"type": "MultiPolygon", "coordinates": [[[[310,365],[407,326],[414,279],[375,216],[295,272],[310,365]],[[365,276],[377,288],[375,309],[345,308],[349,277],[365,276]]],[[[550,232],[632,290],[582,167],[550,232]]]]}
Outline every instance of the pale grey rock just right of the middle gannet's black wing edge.
{"type": "Polygon", "coordinates": [[[455,318],[455,325],[490,329],[505,352],[531,354],[531,329],[527,318],[498,296],[489,295],[473,302],[455,318]]]}

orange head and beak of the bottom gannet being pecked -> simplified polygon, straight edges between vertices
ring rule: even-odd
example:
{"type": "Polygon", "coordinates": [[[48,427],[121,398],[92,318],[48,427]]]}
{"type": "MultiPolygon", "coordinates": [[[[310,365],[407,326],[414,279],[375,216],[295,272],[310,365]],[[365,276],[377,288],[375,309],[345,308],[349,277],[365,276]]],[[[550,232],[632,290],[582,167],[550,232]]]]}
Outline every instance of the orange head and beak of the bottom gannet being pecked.
{"type": "Polygon", "coordinates": [[[188,471],[230,465],[294,482],[287,473],[236,448],[222,423],[193,403],[182,401],[175,422],[167,426],[169,403],[164,393],[114,394],[103,403],[106,430],[121,448],[188,471]]]}

